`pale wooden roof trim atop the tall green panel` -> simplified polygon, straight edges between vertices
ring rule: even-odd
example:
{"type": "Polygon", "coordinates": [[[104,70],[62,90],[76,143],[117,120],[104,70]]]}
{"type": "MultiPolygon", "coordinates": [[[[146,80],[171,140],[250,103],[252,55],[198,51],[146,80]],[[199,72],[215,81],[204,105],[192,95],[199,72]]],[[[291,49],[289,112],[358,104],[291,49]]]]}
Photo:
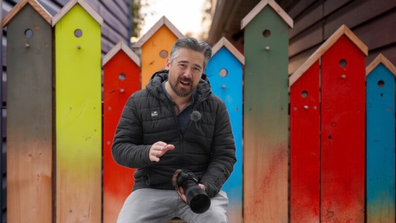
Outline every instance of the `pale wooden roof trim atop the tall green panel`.
{"type": "Polygon", "coordinates": [[[293,28],[293,19],[286,13],[279,4],[275,2],[275,0],[261,0],[258,2],[256,6],[247,15],[241,20],[241,29],[244,29],[245,26],[254,18],[256,15],[269,4],[272,9],[289,25],[290,28],[293,28]]]}

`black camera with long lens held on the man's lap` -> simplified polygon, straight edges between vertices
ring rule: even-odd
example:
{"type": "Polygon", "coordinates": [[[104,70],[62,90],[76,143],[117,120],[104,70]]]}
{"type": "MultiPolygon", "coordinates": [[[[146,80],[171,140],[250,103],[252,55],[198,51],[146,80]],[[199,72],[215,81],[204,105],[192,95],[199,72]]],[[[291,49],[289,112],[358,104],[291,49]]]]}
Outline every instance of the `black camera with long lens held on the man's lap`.
{"type": "Polygon", "coordinates": [[[204,190],[198,187],[198,178],[194,173],[178,169],[173,174],[171,181],[176,191],[179,191],[179,187],[183,187],[187,204],[193,212],[202,214],[209,209],[210,198],[204,190]]]}

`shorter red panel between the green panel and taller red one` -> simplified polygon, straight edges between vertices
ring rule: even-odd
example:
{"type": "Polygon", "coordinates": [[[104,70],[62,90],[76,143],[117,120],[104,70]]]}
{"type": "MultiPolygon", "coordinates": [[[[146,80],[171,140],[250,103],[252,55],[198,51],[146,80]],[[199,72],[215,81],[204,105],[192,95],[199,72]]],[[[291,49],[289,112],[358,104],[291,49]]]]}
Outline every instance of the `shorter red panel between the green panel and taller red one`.
{"type": "Polygon", "coordinates": [[[319,61],[290,90],[290,219],[319,222],[319,61]],[[306,94],[304,94],[306,93],[306,94]]]}

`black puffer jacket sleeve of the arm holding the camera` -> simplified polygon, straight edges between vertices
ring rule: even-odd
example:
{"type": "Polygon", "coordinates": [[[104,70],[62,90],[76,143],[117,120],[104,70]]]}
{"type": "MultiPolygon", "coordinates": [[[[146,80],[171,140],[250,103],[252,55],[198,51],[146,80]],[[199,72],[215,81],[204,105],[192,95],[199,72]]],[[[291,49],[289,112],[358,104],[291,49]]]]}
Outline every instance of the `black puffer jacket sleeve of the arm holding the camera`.
{"type": "Polygon", "coordinates": [[[230,117],[224,102],[221,102],[216,112],[209,166],[200,180],[209,197],[219,193],[225,181],[230,177],[236,162],[230,117]]]}

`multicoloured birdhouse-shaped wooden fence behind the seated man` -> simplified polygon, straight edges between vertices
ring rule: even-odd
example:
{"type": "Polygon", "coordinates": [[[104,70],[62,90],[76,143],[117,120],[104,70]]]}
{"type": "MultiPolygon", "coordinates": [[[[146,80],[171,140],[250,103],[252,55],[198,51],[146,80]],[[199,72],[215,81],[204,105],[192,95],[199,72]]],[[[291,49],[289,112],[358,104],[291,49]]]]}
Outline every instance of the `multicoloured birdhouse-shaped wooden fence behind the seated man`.
{"type": "MultiPolygon", "coordinates": [[[[21,0],[2,20],[10,223],[112,223],[131,192],[115,128],[183,35],[162,17],[134,45],[142,60],[120,42],[101,64],[102,22],[84,0],[53,18],[21,0]]],[[[286,12],[262,0],[241,28],[244,55],[222,38],[205,70],[236,142],[230,222],[395,222],[395,66],[380,55],[365,68],[367,47],[343,25],[288,77],[286,12]]]]}

